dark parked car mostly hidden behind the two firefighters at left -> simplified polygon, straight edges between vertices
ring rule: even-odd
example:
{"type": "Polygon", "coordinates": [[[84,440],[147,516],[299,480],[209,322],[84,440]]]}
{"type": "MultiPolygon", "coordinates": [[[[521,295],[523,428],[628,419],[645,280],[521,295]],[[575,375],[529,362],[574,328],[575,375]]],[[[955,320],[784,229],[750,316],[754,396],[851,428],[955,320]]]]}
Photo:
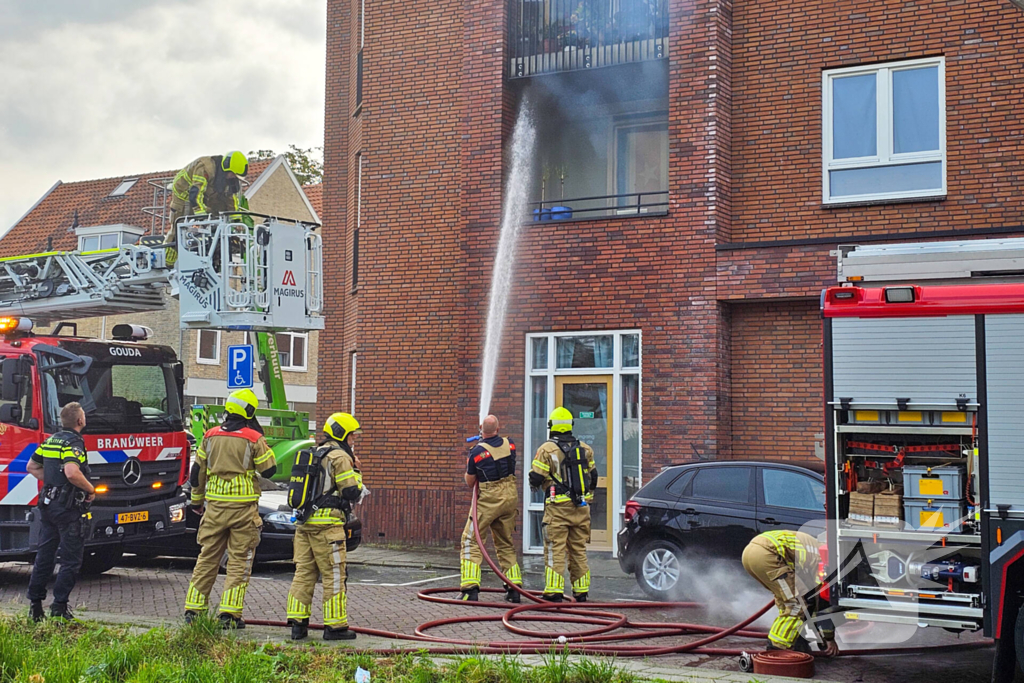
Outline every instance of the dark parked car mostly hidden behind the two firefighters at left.
{"type": "MultiPolygon", "coordinates": [[[[292,541],[295,538],[295,522],[292,509],[288,507],[288,490],[282,484],[262,480],[265,486],[259,498],[259,516],[263,520],[263,532],[256,547],[254,562],[270,562],[292,559],[292,541]],[[264,483],[265,482],[265,483],[264,483]]],[[[125,544],[124,552],[139,557],[199,557],[196,532],[200,516],[187,508],[185,532],[176,537],[161,539],[159,543],[125,544]]]]}

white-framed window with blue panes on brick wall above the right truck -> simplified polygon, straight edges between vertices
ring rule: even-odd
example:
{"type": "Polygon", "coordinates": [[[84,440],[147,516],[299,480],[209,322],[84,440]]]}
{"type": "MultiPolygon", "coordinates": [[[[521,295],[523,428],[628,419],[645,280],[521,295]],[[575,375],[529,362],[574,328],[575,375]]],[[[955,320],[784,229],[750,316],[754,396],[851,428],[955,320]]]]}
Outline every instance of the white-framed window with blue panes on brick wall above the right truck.
{"type": "Polygon", "coordinates": [[[945,59],[822,74],[825,204],[946,194],[945,59]]]}

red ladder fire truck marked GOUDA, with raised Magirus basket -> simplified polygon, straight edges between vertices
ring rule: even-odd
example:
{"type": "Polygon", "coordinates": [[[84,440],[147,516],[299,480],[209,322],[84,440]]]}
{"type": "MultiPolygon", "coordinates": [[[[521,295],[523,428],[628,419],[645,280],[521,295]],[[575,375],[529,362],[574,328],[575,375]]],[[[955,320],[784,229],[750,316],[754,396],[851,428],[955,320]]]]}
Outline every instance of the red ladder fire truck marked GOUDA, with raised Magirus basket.
{"type": "MultiPolygon", "coordinates": [[[[71,401],[86,412],[82,435],[96,487],[83,571],[114,566],[124,543],[184,531],[189,446],[181,362],[172,348],[144,343],[152,335],[144,326],[115,325],[111,340],[96,340],[61,321],[144,315],[166,305],[170,289],[182,329],[270,339],[284,330],[322,330],[316,227],[251,213],[200,216],[179,224],[173,263],[162,238],[0,259],[0,560],[35,551],[41,482],[26,466],[60,428],[60,408],[71,401]],[[32,332],[54,323],[50,333],[32,332]]],[[[278,384],[283,389],[270,382],[268,392],[278,384]]],[[[291,418],[278,416],[285,423],[279,431],[298,424],[291,418]]]]}

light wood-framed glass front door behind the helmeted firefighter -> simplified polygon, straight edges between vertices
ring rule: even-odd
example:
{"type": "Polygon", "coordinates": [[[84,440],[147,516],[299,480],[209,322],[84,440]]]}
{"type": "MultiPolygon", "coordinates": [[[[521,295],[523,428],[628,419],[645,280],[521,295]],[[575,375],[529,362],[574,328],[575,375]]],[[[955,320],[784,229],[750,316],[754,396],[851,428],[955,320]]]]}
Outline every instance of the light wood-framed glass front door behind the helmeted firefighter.
{"type": "Polygon", "coordinates": [[[555,378],[555,404],[572,414],[572,433],[594,449],[597,490],[590,511],[590,548],[611,550],[611,375],[555,378]]]}

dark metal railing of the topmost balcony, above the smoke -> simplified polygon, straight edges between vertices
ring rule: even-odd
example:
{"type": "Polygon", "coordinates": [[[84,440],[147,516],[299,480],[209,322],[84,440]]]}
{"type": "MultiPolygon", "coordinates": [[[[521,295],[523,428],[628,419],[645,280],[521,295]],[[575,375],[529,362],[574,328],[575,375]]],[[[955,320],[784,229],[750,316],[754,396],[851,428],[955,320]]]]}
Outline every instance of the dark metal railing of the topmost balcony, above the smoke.
{"type": "Polygon", "coordinates": [[[509,78],[660,59],[669,0],[509,0],[509,78]]]}

